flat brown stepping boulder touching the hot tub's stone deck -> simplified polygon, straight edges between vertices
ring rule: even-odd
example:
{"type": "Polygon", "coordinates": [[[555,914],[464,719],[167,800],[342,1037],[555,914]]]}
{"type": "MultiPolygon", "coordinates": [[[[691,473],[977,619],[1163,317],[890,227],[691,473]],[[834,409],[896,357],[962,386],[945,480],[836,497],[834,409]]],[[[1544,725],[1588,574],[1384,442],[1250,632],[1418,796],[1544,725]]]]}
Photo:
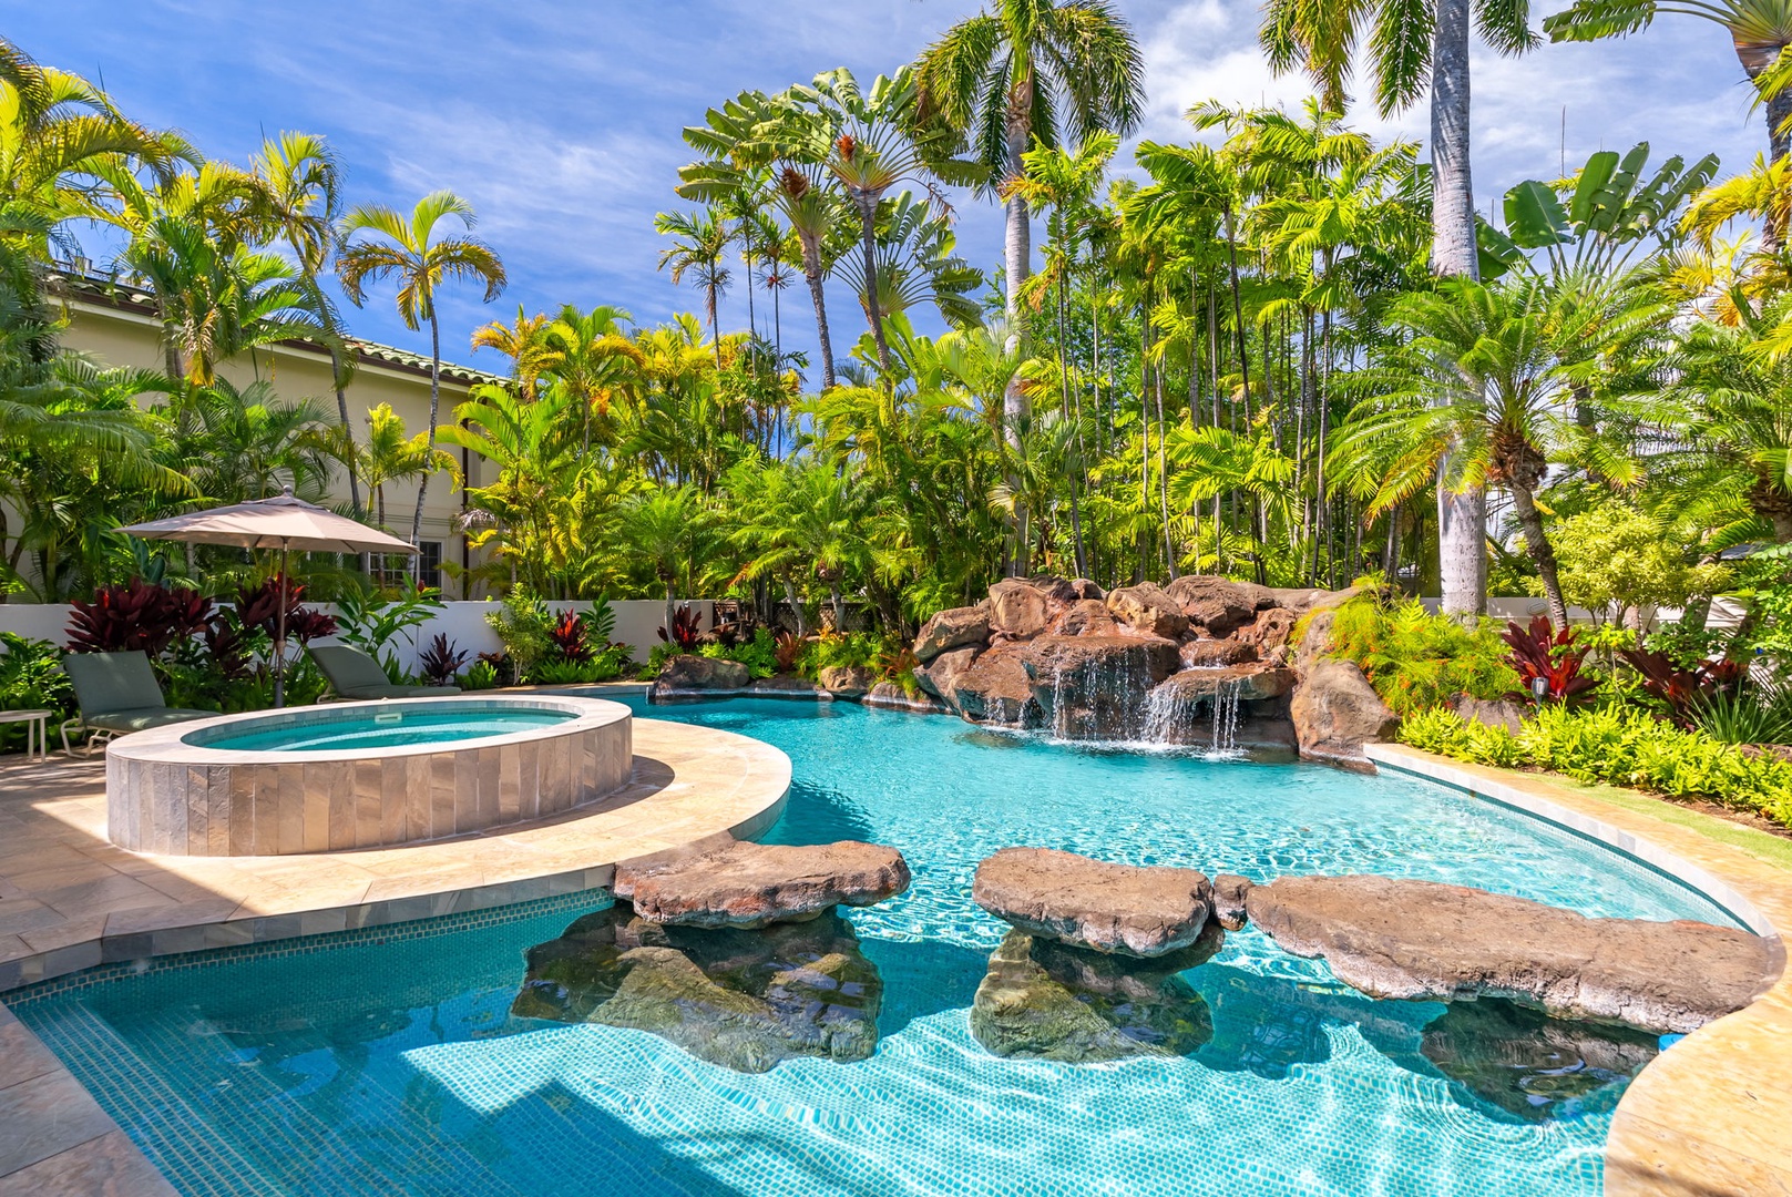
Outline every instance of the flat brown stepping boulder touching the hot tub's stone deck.
{"type": "Polygon", "coordinates": [[[894,848],[753,844],[674,849],[616,865],[611,892],[649,923],[765,926],[812,919],[840,903],[869,907],[909,889],[909,862],[894,848]]]}

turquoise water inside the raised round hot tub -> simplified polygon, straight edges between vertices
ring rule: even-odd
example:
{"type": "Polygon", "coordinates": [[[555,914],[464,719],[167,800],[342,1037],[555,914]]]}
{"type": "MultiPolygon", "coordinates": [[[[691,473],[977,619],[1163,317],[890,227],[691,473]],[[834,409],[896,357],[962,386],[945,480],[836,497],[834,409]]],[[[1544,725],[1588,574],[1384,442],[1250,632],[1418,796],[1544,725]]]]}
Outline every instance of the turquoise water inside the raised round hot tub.
{"type": "Polygon", "coordinates": [[[380,749],[410,744],[484,740],[514,731],[538,731],[577,719],[572,711],[505,706],[500,702],[407,704],[385,710],[312,708],[274,719],[253,719],[183,736],[195,747],[240,753],[319,753],[324,749],[380,749]]]}

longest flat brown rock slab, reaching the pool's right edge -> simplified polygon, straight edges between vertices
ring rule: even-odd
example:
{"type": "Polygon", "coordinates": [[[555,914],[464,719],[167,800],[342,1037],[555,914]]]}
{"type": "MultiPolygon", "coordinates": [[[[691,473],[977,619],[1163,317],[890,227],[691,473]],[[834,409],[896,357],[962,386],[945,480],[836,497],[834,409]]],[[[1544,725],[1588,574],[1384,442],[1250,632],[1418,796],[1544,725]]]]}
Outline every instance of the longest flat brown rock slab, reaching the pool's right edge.
{"type": "Polygon", "coordinates": [[[1769,943],[1706,923],[1591,919],[1464,885],[1285,876],[1245,898],[1285,952],[1373,998],[1511,998],[1559,1018],[1697,1030],[1765,993],[1769,943]]]}

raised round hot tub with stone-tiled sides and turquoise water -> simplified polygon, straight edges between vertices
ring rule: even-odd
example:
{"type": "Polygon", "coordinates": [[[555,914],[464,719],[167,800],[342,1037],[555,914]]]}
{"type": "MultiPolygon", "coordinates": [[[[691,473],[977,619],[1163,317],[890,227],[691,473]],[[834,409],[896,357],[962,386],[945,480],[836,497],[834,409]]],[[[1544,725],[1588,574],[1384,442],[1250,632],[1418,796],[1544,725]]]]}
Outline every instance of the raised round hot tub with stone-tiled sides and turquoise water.
{"type": "Polygon", "coordinates": [[[448,695],[220,715],[113,740],[108,833],[183,857],[389,848],[577,810],[627,785],[629,708],[448,695]]]}

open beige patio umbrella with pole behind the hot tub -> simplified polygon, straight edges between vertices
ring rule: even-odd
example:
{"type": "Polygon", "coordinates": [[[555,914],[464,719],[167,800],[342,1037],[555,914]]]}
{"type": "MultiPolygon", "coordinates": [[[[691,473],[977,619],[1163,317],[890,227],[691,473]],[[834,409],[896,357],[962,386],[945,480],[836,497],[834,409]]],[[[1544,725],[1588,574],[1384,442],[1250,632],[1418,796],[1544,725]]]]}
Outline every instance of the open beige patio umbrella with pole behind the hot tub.
{"type": "Polygon", "coordinates": [[[151,541],[280,550],[280,604],[276,604],[278,615],[274,616],[274,706],[285,706],[287,697],[287,554],[294,548],[344,554],[418,552],[410,543],[380,529],[369,529],[366,523],[339,516],[328,507],[294,498],[292,487],[274,498],[192,511],[167,520],[133,523],[118,530],[151,541]]]}

